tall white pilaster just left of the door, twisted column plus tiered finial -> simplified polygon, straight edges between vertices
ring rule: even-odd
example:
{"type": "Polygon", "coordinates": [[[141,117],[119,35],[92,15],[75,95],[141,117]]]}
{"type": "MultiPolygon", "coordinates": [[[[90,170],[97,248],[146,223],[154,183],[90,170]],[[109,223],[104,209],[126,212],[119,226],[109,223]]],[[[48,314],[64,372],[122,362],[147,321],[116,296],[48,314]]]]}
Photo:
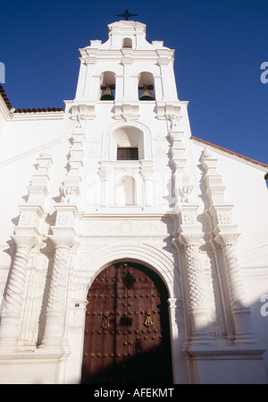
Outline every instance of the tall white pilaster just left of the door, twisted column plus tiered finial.
{"type": "MultiPolygon", "coordinates": [[[[80,110],[81,112],[81,110],[80,110]]],[[[53,235],[48,236],[54,243],[54,266],[46,305],[44,337],[39,349],[52,349],[56,353],[66,352],[64,339],[66,295],[70,277],[70,249],[75,244],[75,223],[80,195],[80,169],[83,167],[83,141],[85,141],[85,115],[77,115],[77,122],[71,136],[68,173],[60,187],[62,199],[55,205],[56,219],[51,227],[53,235]]]]}

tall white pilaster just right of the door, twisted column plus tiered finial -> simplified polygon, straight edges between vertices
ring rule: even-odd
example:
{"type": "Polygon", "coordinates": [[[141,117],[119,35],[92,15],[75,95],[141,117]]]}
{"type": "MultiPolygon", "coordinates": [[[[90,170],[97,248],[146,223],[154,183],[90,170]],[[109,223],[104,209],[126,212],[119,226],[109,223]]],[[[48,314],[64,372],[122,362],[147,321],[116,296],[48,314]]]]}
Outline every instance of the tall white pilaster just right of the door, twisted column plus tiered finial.
{"type": "Polygon", "coordinates": [[[182,142],[184,132],[180,130],[180,115],[166,115],[171,124],[169,136],[172,139],[172,165],[175,167],[173,175],[174,210],[176,215],[176,229],[174,244],[178,252],[181,245],[185,253],[183,264],[188,316],[190,317],[190,345],[189,348],[199,347],[211,343],[209,334],[207,309],[205,306],[204,285],[199,261],[199,246],[202,232],[197,223],[198,204],[192,201],[193,184],[186,171],[186,148],[182,142]]]}

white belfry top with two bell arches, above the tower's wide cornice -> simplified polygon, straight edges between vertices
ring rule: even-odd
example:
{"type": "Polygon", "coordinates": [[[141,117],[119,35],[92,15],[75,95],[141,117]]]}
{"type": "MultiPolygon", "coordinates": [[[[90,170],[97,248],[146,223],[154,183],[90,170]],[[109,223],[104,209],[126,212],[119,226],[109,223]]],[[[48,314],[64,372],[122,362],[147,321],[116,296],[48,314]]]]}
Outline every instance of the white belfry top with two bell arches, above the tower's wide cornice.
{"type": "Polygon", "coordinates": [[[115,102],[138,102],[138,91],[144,86],[153,92],[149,100],[178,100],[173,50],[163,47],[162,41],[148,43],[146,25],[137,21],[113,22],[108,35],[104,44],[91,40],[90,46],[80,49],[75,100],[96,102],[105,86],[114,90],[115,102]]]}

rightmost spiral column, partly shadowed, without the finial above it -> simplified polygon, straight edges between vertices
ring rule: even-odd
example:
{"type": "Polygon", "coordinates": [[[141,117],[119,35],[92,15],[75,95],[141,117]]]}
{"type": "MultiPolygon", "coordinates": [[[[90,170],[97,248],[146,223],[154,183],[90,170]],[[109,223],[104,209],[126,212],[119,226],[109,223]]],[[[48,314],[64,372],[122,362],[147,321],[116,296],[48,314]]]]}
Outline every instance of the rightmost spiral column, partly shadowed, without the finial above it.
{"type": "Polygon", "coordinates": [[[227,243],[224,235],[218,235],[217,240],[222,244],[222,252],[227,270],[230,308],[236,332],[235,343],[256,342],[254,332],[251,329],[250,309],[245,303],[245,289],[239,270],[236,244],[227,243]]]}

